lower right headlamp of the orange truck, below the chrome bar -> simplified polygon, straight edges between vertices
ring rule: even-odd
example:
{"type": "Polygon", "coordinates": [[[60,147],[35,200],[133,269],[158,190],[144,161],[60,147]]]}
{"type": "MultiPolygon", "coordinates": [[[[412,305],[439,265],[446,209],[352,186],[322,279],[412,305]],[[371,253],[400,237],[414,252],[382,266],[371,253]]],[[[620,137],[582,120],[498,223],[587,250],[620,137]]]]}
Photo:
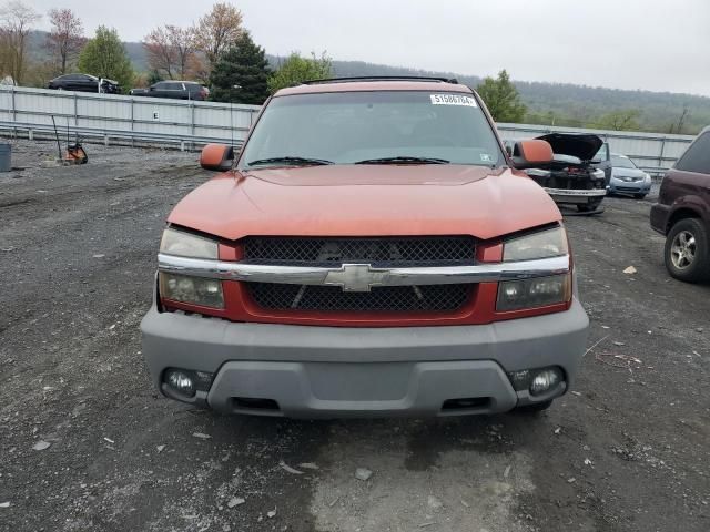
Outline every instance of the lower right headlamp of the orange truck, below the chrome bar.
{"type": "Polygon", "coordinates": [[[571,298],[571,274],[507,280],[498,285],[496,310],[520,310],[567,303],[571,298]]]}

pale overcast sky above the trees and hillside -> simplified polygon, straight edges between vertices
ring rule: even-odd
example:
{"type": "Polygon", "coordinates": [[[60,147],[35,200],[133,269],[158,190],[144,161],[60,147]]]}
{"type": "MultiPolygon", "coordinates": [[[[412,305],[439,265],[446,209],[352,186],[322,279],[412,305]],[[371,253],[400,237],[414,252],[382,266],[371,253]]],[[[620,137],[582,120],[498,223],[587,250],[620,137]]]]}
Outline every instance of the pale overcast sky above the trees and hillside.
{"type": "MultiPolygon", "coordinates": [[[[184,0],[24,0],[69,7],[88,33],[139,41],[212,4],[184,0]]],[[[0,0],[0,3],[3,3],[0,0]]],[[[710,0],[231,0],[268,53],[710,96],[710,0]]],[[[39,24],[48,28],[47,17],[39,24]]]]}

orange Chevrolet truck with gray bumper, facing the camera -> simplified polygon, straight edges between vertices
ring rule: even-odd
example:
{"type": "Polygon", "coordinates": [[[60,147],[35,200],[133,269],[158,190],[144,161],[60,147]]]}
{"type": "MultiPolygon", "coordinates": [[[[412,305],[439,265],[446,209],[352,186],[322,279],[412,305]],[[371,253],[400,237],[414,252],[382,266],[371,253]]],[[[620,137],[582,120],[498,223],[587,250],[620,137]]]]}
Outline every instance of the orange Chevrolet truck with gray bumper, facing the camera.
{"type": "Polygon", "coordinates": [[[169,398],[230,413],[545,409],[586,349],[561,215],[445,80],[278,91],[172,211],[141,324],[169,398]],[[211,318],[211,319],[205,319],[211,318]]]}

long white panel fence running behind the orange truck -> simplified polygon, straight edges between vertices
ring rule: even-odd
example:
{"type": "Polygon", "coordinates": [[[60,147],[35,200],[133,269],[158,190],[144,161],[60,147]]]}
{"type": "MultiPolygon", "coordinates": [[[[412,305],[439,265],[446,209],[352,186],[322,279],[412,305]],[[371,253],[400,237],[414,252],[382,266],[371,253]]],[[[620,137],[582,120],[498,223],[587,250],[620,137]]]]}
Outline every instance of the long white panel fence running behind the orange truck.
{"type": "MultiPolygon", "coordinates": [[[[171,144],[181,150],[210,142],[241,145],[258,105],[158,98],[121,96],[0,85],[0,133],[29,139],[79,135],[88,141],[171,144]]],[[[631,157],[651,173],[662,173],[682,155],[690,135],[584,130],[529,124],[497,124],[503,139],[546,133],[596,133],[611,151],[631,157]]]]}

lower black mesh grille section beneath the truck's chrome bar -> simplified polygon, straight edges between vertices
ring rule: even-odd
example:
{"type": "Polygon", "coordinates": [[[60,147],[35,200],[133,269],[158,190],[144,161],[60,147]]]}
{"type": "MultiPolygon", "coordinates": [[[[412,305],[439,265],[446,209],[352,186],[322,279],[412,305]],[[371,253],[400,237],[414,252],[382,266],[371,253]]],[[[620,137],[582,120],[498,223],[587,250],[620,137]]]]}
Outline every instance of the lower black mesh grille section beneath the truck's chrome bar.
{"type": "Polygon", "coordinates": [[[383,286],[372,291],[343,291],[338,286],[246,283],[254,301],[274,310],[452,311],[462,308],[471,285],[383,286]]]}

